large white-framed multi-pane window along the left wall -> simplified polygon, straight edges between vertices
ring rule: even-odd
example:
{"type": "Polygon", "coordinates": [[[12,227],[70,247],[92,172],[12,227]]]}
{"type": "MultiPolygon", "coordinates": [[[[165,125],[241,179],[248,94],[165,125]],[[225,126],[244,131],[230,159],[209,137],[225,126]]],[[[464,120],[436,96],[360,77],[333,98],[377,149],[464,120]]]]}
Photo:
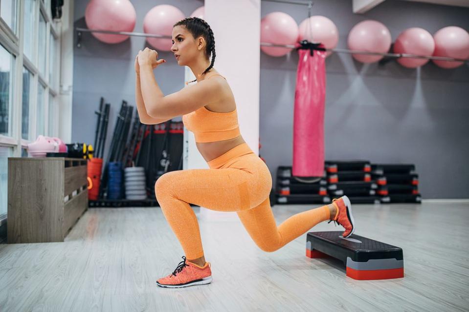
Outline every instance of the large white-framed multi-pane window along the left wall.
{"type": "Polygon", "coordinates": [[[0,0],[0,236],[6,228],[8,157],[28,157],[26,146],[38,135],[58,135],[61,33],[50,4],[0,0]]]}

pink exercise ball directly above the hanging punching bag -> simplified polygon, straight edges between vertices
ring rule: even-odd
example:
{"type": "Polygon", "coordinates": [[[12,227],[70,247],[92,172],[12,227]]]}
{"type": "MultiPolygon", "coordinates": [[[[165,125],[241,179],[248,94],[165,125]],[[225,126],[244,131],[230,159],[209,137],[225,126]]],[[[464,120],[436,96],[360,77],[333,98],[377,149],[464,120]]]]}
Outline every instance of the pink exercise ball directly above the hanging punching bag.
{"type": "MultiPolygon", "coordinates": [[[[301,22],[297,41],[321,42],[326,49],[334,49],[339,42],[339,31],[334,22],[327,17],[315,15],[301,22]],[[308,27],[309,26],[309,27],[308,27]],[[310,28],[310,29],[308,29],[310,28]]],[[[328,51],[326,56],[331,55],[328,51]]]]}

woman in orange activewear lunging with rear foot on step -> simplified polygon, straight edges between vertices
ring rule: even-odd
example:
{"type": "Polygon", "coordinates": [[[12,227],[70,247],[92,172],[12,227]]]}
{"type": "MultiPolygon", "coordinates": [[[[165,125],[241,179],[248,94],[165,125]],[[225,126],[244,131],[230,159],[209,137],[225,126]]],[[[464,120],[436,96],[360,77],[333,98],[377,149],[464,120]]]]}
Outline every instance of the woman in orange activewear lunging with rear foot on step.
{"type": "Polygon", "coordinates": [[[161,287],[187,287],[212,281],[205,261],[196,215],[189,203],[217,211],[236,211],[261,250],[278,250],[319,222],[331,220],[352,235],[354,220],[346,196],[331,205],[298,213],[279,227],[269,204],[272,187],[266,164],[240,134],[233,93],[215,68],[215,40],[208,23],[187,18],[173,27],[174,53],[180,66],[189,66],[196,84],[165,96],[153,69],[166,62],[145,48],[135,59],[137,103],[140,121],[159,124],[182,115],[194,132],[197,148],[209,169],[177,170],[163,174],[155,185],[161,211],[179,239],[185,256],[171,274],[159,279],[161,287]],[[211,62],[209,61],[212,56],[211,62]]]}

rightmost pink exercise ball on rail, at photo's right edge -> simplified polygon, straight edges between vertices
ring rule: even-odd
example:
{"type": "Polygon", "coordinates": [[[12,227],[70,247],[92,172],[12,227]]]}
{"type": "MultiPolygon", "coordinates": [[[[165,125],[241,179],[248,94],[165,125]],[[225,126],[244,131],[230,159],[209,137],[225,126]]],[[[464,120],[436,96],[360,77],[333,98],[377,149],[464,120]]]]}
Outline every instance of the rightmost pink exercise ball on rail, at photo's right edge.
{"type": "MultiPolygon", "coordinates": [[[[440,29],[433,35],[435,39],[435,52],[433,56],[467,60],[469,58],[469,34],[457,26],[448,26],[440,29]]],[[[464,62],[437,61],[435,64],[443,68],[456,68],[464,62]]]]}

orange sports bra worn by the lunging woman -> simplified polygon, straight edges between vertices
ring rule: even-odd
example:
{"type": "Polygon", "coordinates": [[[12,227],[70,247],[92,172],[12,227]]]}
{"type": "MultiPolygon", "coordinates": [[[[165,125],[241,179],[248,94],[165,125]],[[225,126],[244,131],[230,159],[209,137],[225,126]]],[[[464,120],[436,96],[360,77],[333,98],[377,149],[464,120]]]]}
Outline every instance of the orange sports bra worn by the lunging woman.
{"type": "MultiPolygon", "coordinates": [[[[219,74],[212,76],[217,75],[222,76],[219,74]]],[[[187,130],[194,132],[197,143],[229,140],[240,135],[236,108],[230,112],[214,112],[202,106],[189,114],[182,115],[182,123],[187,130]]]]}

